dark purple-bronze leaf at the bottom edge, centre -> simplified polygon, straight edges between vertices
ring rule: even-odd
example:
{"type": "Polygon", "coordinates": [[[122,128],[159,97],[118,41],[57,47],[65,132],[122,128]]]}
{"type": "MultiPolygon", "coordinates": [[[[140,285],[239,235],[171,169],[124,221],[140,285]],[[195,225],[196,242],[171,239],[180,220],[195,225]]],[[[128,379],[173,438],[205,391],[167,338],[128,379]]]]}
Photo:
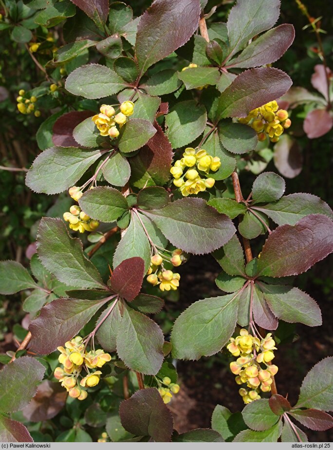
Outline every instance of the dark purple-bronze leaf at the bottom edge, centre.
{"type": "Polygon", "coordinates": [[[155,388],[142,389],[120,404],[125,430],[137,436],[151,436],[155,442],[170,442],[172,415],[155,388]]]}

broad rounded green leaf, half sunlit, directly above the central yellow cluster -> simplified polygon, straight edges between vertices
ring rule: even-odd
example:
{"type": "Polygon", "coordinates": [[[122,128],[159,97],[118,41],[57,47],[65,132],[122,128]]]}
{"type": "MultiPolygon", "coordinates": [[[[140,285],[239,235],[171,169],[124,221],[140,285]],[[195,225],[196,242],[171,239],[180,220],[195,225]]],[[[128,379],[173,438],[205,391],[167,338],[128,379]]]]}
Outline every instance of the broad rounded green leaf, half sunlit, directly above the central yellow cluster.
{"type": "Polygon", "coordinates": [[[177,149],[194,141],[206,126],[207,113],[195,100],[176,103],[166,116],[166,135],[172,148],[177,149]]]}

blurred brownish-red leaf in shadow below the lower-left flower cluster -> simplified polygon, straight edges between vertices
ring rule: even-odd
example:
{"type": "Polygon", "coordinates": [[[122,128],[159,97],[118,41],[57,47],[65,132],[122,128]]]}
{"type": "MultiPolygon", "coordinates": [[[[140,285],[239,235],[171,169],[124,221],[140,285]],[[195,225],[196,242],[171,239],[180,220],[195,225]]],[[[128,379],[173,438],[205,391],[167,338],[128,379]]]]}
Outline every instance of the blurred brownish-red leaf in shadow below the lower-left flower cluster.
{"type": "Polygon", "coordinates": [[[43,381],[35,397],[23,410],[23,415],[30,422],[52,419],[65,405],[67,392],[58,382],[43,381]]]}

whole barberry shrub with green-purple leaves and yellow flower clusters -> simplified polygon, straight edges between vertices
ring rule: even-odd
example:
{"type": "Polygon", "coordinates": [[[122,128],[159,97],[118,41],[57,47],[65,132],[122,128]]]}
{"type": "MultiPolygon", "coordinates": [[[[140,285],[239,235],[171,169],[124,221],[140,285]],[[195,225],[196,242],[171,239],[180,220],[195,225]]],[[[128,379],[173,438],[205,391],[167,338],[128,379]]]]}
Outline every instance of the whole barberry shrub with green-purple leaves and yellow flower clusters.
{"type": "Polygon", "coordinates": [[[100,442],[303,442],[295,420],[331,428],[333,357],[306,375],[294,406],[277,393],[272,360],[279,319],[321,324],[293,282],[332,252],[332,211],[311,194],[284,196],[276,173],[259,174],[245,198],[238,178],[258,141],[276,143],[292,125],[279,106],[292,80],[271,67],[294,39],[292,25],[274,27],[279,0],[238,0],[226,23],[215,10],[206,22],[204,0],[155,0],[138,18],[118,1],[31,0],[14,19],[12,3],[1,28],[30,42],[46,76],[17,98],[19,113],[47,117],[26,185],[73,201],[40,221],[29,270],[0,262],[0,293],[29,291],[31,317],[0,373],[0,439],[31,441],[11,414],[50,419],[66,397],[67,408],[87,402],[87,411],[65,441],[91,440],[84,423],[100,428],[100,442]],[[45,28],[63,21],[66,43],[53,48],[45,28]],[[207,253],[221,265],[221,295],[191,304],[166,341],[148,315],[177,290],[189,255],[207,253]],[[22,356],[27,346],[34,356],[22,356]],[[212,429],[178,434],[166,407],[180,388],[173,359],[224,347],[241,420],[217,405],[212,429]]]}

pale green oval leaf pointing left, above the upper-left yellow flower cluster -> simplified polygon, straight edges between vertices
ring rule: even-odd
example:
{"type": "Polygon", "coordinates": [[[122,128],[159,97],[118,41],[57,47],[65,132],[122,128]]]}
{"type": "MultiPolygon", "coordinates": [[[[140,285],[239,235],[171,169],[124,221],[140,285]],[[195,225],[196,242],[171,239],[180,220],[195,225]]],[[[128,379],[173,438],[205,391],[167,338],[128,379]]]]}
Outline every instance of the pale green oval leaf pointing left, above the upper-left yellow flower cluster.
{"type": "Polygon", "coordinates": [[[65,88],[71,94],[85,98],[102,98],[116,94],[127,83],[114,71],[100,64],[78,67],[68,75],[65,88]]]}

